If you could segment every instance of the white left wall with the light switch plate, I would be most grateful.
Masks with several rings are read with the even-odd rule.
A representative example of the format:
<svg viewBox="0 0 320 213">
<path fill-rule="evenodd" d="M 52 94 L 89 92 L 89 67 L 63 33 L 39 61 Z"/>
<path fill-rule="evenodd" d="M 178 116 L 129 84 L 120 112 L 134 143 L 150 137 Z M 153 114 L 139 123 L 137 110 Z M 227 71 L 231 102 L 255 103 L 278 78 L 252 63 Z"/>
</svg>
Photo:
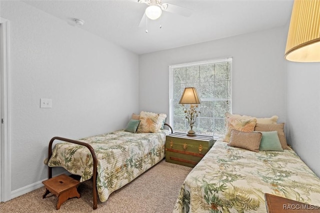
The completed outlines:
<svg viewBox="0 0 320 213">
<path fill-rule="evenodd" d="M 15 190 L 47 178 L 52 136 L 125 127 L 138 112 L 138 55 L 20 1 L 1 1 L 0 14 L 10 25 Z M 52 108 L 40 108 L 40 98 L 51 98 Z"/>
</svg>

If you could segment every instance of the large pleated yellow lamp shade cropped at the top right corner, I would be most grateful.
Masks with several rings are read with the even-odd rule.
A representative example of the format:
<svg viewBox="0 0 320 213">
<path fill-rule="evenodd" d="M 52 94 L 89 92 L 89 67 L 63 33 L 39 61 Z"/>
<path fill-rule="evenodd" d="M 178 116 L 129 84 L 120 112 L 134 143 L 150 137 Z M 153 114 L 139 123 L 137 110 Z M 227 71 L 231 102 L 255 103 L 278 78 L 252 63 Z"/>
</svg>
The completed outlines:
<svg viewBox="0 0 320 213">
<path fill-rule="evenodd" d="M 320 0 L 294 0 L 284 57 L 320 61 Z"/>
</svg>

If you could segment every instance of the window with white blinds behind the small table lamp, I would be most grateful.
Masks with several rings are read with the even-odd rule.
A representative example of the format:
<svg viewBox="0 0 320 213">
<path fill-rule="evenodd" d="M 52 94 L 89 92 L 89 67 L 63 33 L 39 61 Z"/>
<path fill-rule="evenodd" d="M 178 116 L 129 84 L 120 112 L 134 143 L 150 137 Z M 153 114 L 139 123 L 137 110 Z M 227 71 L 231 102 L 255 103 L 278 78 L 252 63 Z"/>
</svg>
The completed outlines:
<svg viewBox="0 0 320 213">
<path fill-rule="evenodd" d="M 185 87 L 195 87 L 201 104 L 193 130 L 197 134 L 224 135 L 224 113 L 231 112 L 231 65 L 232 58 L 223 58 L 170 66 L 170 118 L 174 131 L 189 130 L 179 100 Z"/>
</svg>

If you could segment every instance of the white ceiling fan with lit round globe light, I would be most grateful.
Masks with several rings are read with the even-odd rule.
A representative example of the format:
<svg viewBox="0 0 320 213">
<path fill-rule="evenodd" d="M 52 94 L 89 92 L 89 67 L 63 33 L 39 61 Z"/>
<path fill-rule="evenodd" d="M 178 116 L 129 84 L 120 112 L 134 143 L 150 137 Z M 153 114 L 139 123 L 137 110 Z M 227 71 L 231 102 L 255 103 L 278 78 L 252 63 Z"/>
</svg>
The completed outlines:
<svg viewBox="0 0 320 213">
<path fill-rule="evenodd" d="M 137 0 L 138 3 L 145 3 L 148 5 L 140 21 L 139 27 L 143 25 L 146 17 L 155 20 L 159 18 L 162 14 L 162 11 L 167 11 L 171 13 L 176 13 L 185 17 L 188 17 L 192 14 L 192 10 L 182 6 L 177 6 L 171 3 L 162 3 L 162 0 Z M 146 17 L 145 17 L 146 16 Z"/>
</svg>

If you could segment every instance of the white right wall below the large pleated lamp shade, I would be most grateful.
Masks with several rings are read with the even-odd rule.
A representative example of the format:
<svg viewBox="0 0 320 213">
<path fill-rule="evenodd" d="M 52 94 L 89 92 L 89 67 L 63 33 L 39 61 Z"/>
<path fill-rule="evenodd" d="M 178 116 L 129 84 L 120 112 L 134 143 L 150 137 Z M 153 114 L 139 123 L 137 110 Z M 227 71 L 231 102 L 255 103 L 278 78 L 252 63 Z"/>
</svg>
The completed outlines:
<svg viewBox="0 0 320 213">
<path fill-rule="evenodd" d="M 320 176 L 320 63 L 287 62 L 287 133 L 292 148 Z"/>
</svg>

